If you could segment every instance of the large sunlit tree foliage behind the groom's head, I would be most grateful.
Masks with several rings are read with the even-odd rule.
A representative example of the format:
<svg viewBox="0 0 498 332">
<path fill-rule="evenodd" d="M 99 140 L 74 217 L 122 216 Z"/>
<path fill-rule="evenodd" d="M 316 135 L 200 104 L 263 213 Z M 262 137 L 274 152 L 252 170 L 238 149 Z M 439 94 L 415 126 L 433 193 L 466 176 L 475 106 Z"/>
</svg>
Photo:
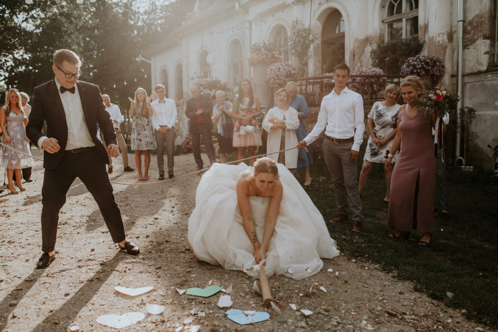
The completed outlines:
<svg viewBox="0 0 498 332">
<path fill-rule="evenodd" d="M 188 17 L 192 2 L 1 1 L 0 85 L 32 95 L 54 77 L 54 51 L 68 48 L 82 60 L 80 80 L 99 85 L 127 110 L 138 87 L 151 92 L 150 64 L 137 58 Z"/>
</svg>

